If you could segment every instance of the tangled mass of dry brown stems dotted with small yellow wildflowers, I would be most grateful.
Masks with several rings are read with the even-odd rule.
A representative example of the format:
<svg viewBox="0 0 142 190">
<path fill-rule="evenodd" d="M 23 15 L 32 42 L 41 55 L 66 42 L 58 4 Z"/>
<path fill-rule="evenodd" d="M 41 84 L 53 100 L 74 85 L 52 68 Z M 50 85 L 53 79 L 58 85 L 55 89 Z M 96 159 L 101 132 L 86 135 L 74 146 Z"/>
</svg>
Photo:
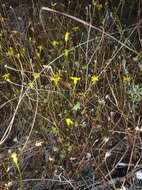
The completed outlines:
<svg viewBox="0 0 142 190">
<path fill-rule="evenodd" d="M 101 189 L 127 188 L 127 179 L 119 185 L 113 179 L 141 179 L 142 56 L 131 41 L 138 28 L 124 28 L 126 5 L 112 3 L 77 4 L 82 20 L 76 10 L 70 13 L 73 1 L 40 10 L 32 2 L 39 19 L 27 19 L 23 31 L 17 19 L 26 16 L 15 12 L 17 27 L 11 29 L 3 10 L 1 188 L 23 189 L 38 174 L 63 189 L 92 189 L 97 181 Z"/>
</svg>

